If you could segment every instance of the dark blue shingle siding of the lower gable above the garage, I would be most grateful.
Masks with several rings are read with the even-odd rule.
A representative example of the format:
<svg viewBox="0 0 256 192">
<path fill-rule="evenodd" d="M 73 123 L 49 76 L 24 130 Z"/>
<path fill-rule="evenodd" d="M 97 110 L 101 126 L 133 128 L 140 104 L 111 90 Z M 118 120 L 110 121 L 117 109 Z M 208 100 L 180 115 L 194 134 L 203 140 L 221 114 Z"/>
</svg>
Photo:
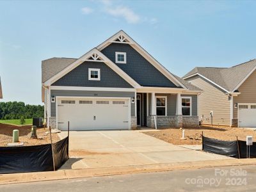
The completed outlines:
<svg viewBox="0 0 256 192">
<path fill-rule="evenodd" d="M 88 80 L 88 68 L 100 68 L 100 81 Z M 52 85 L 132 88 L 131 84 L 116 74 L 108 65 L 94 61 L 85 61 Z"/>
</svg>

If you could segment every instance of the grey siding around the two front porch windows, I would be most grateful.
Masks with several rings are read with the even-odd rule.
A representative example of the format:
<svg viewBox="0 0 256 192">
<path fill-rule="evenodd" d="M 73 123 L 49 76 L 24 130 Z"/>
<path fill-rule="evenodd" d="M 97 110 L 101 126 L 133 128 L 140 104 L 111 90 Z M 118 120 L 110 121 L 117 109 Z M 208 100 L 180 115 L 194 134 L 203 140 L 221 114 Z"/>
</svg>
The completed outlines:
<svg viewBox="0 0 256 192">
<path fill-rule="evenodd" d="M 167 97 L 167 116 L 176 115 L 177 94 L 171 93 L 156 93 L 156 96 Z M 184 97 L 192 97 L 192 116 L 197 116 L 197 96 L 196 95 L 181 95 Z M 151 114 L 151 93 L 148 94 L 148 114 Z"/>
</svg>

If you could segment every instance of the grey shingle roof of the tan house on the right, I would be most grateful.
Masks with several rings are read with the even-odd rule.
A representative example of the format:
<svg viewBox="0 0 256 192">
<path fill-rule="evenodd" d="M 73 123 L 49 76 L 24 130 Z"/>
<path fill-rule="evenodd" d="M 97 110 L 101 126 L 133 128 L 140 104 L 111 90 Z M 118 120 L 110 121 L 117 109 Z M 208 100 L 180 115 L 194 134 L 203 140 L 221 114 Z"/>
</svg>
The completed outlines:
<svg viewBox="0 0 256 192">
<path fill-rule="evenodd" d="M 199 75 L 217 84 L 227 92 L 234 92 L 255 69 L 256 60 L 250 60 L 229 68 L 195 67 L 183 79 Z"/>
</svg>

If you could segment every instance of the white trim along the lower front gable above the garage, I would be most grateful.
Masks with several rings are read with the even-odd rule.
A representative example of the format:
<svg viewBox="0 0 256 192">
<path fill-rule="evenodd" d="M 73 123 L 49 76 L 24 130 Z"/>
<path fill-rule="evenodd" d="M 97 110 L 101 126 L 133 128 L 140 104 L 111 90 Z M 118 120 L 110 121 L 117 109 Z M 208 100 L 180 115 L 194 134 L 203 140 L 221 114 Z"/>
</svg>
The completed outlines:
<svg viewBox="0 0 256 192">
<path fill-rule="evenodd" d="M 84 54 L 83 56 L 78 58 L 76 61 L 74 61 L 74 63 L 71 63 L 70 65 L 68 65 L 68 67 L 64 68 L 63 70 L 58 72 L 58 74 L 51 77 L 51 79 L 47 80 L 44 83 L 44 86 L 51 86 L 52 83 L 58 81 L 58 79 L 65 76 L 66 74 L 68 74 L 68 72 L 70 72 L 77 66 L 84 63 L 84 61 L 104 62 L 106 65 L 108 65 L 108 67 L 110 67 L 113 71 L 115 71 L 116 74 L 118 74 L 120 77 L 125 79 L 125 81 L 127 81 L 127 83 L 131 84 L 134 88 L 141 87 L 140 84 L 138 84 L 136 81 L 134 81 L 134 79 L 132 79 L 130 76 L 128 76 L 121 68 L 119 68 L 117 65 L 115 65 L 115 63 L 113 63 L 111 60 L 109 60 L 109 58 L 104 56 L 104 54 L 102 54 L 102 52 L 100 52 L 96 48 L 92 49 L 89 52 L 86 52 L 86 54 Z"/>
</svg>

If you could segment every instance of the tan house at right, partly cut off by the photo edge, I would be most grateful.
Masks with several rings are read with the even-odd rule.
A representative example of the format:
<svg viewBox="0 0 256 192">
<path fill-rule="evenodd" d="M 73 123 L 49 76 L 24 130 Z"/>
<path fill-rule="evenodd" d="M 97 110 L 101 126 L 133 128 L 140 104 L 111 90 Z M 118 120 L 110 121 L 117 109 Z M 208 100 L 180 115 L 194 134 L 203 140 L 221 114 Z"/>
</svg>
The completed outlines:
<svg viewBox="0 0 256 192">
<path fill-rule="evenodd" d="M 230 68 L 196 67 L 183 77 L 203 90 L 198 115 L 204 124 L 256 127 L 255 69 L 250 60 Z"/>
</svg>

